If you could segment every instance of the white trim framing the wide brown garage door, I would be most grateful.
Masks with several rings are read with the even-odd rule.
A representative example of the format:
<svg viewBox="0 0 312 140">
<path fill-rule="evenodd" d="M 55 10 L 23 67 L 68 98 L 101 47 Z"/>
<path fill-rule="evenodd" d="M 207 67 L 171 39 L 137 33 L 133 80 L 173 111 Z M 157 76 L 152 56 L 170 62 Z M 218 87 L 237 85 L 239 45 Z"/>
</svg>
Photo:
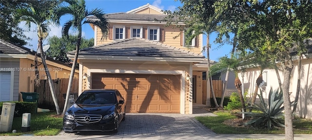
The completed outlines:
<svg viewBox="0 0 312 140">
<path fill-rule="evenodd" d="M 185 114 L 185 71 L 184 70 L 103 70 L 103 69 L 89 69 L 87 75 L 89 75 L 88 81 L 91 81 L 91 73 L 132 73 L 132 74 L 179 74 L 181 75 L 181 89 L 180 89 L 180 113 Z M 90 88 L 91 83 L 88 82 Z M 80 93 L 79 93 L 80 94 Z"/>
</svg>

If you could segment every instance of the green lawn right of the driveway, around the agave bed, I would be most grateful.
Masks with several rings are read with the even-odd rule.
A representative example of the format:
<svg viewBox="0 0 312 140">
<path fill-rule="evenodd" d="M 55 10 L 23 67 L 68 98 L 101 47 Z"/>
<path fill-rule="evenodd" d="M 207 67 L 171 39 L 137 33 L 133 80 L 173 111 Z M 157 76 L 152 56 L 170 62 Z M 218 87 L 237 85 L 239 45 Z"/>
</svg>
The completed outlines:
<svg viewBox="0 0 312 140">
<path fill-rule="evenodd" d="M 217 117 L 195 117 L 200 123 L 217 134 L 285 134 L 284 129 L 259 129 L 253 127 L 233 127 L 223 124 L 224 121 L 237 118 L 230 112 L 214 112 Z M 312 134 L 312 120 L 293 120 L 294 134 Z"/>
</svg>

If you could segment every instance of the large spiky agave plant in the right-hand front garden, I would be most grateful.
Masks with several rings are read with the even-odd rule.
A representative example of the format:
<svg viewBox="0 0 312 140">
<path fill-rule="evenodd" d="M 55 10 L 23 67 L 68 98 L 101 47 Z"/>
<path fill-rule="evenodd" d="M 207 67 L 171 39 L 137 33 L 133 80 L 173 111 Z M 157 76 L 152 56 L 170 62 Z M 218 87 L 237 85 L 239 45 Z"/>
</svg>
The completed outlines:
<svg viewBox="0 0 312 140">
<path fill-rule="evenodd" d="M 251 117 L 251 120 L 245 125 L 252 125 L 254 127 L 265 128 L 268 130 L 277 127 L 285 127 L 284 125 L 284 99 L 282 91 L 270 89 L 268 103 L 263 99 L 262 91 L 258 94 L 260 105 L 254 104 L 248 108 L 259 110 L 259 112 L 243 112 L 246 117 Z"/>
</svg>

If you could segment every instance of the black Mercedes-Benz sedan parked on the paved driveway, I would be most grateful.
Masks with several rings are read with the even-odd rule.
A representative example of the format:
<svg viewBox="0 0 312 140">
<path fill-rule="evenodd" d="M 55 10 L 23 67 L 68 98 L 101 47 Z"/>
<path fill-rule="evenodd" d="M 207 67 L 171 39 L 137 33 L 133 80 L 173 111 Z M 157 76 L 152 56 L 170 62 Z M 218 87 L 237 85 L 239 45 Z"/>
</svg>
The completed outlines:
<svg viewBox="0 0 312 140">
<path fill-rule="evenodd" d="M 82 92 L 64 114 L 64 132 L 113 131 L 125 120 L 126 104 L 116 89 L 90 89 Z"/>
</svg>

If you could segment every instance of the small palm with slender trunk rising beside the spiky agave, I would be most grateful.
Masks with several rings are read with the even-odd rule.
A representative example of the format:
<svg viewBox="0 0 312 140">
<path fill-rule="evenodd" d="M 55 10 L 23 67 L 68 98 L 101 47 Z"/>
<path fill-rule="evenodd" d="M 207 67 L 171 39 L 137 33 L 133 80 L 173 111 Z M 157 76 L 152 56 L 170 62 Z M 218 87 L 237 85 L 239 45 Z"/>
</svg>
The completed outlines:
<svg viewBox="0 0 312 140">
<path fill-rule="evenodd" d="M 243 61 L 238 59 L 237 55 L 234 54 L 231 56 L 231 58 L 224 56 L 224 57 L 219 58 L 219 62 L 211 67 L 209 75 L 215 75 L 218 72 L 225 72 L 228 69 L 234 71 L 234 75 L 235 75 L 234 85 L 235 85 L 235 88 L 237 88 L 238 90 L 239 99 L 240 99 L 240 102 L 242 103 L 243 111 L 245 112 L 246 106 L 245 106 L 244 96 L 241 90 L 242 84 L 238 78 L 238 72 L 240 70 L 243 70 L 241 66 L 244 66 L 244 63 Z"/>
</svg>

